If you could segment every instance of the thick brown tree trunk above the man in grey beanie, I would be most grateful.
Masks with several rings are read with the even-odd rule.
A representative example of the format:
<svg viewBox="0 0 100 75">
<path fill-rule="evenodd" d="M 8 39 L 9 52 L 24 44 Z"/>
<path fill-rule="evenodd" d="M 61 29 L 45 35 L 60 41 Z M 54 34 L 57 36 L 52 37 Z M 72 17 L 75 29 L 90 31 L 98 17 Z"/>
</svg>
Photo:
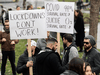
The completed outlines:
<svg viewBox="0 0 100 75">
<path fill-rule="evenodd" d="M 99 3 L 100 0 L 91 0 L 89 34 L 92 35 L 96 41 L 97 41 L 97 27 L 98 27 L 98 17 L 99 17 Z"/>
</svg>

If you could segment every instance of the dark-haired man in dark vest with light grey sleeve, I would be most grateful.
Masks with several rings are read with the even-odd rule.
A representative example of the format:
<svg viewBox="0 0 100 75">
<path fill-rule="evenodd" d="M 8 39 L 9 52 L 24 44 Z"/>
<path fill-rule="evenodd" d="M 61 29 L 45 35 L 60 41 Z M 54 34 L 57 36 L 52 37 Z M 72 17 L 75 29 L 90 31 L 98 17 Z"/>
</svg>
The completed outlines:
<svg viewBox="0 0 100 75">
<path fill-rule="evenodd" d="M 63 52 L 62 57 L 62 65 L 65 66 L 74 58 L 78 57 L 78 51 L 77 48 L 72 44 L 73 37 L 70 34 L 65 34 L 63 36 L 63 43 L 66 45 L 66 48 Z"/>
</svg>

